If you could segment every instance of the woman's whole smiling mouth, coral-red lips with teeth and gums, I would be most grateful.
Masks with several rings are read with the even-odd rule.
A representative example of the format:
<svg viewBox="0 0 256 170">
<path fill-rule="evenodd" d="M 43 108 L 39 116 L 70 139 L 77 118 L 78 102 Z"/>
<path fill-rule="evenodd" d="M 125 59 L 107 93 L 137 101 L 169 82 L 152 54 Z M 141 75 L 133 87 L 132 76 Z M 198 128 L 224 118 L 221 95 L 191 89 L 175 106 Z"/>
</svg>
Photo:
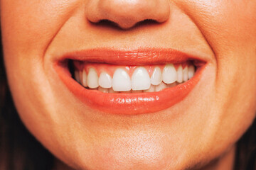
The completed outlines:
<svg viewBox="0 0 256 170">
<path fill-rule="evenodd" d="M 206 62 L 170 49 L 85 50 L 63 55 L 54 68 L 86 106 L 106 113 L 154 113 L 183 101 Z"/>
</svg>

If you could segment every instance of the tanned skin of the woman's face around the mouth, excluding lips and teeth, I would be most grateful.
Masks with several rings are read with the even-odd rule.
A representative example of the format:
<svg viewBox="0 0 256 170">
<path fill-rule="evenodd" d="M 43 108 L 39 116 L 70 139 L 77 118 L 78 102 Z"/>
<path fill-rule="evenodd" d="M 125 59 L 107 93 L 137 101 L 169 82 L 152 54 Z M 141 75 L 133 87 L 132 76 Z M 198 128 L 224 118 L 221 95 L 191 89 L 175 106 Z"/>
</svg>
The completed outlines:
<svg viewBox="0 0 256 170">
<path fill-rule="evenodd" d="M 92 23 L 105 13 L 123 29 Z M 4 60 L 18 113 L 73 169 L 193 169 L 213 160 L 218 169 L 225 155 L 232 164 L 235 142 L 255 118 L 255 13 L 252 0 L 1 0 Z M 159 23 L 134 26 L 144 19 Z M 200 54 L 207 67 L 176 105 L 112 115 L 79 101 L 53 69 L 65 52 L 97 47 L 174 48 Z"/>
</svg>

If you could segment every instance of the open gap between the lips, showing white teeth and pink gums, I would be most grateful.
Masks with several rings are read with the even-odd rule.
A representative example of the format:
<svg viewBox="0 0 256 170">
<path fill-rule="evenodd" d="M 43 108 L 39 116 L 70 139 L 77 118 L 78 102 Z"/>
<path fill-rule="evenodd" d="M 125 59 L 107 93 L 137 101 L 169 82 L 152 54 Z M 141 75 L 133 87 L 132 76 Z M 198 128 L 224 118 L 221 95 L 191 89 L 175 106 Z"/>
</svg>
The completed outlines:
<svg viewBox="0 0 256 170">
<path fill-rule="evenodd" d="M 149 93 L 177 86 L 191 79 L 191 62 L 125 66 L 71 61 L 73 78 L 86 89 L 103 93 Z"/>
</svg>

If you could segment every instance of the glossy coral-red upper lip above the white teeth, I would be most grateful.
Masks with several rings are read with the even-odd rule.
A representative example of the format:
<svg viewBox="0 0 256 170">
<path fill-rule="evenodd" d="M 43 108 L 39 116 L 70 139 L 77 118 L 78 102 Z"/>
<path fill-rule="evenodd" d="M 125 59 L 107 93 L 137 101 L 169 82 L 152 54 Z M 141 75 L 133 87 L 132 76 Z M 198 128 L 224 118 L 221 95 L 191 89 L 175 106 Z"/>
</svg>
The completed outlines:
<svg viewBox="0 0 256 170">
<path fill-rule="evenodd" d="M 196 61 L 197 64 L 203 61 L 203 57 L 191 55 L 174 49 L 142 48 L 138 50 L 114 50 L 109 48 L 98 48 L 68 52 L 58 58 L 63 60 L 79 60 L 86 62 L 101 62 L 119 65 L 146 65 L 181 63 L 188 60 Z"/>
</svg>

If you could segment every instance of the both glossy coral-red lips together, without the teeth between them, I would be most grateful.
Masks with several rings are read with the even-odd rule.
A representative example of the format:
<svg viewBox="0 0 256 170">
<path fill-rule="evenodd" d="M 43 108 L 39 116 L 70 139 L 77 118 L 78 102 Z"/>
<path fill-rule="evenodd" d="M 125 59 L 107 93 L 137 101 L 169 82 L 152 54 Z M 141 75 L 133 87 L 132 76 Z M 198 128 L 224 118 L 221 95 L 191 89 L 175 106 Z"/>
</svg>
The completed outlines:
<svg viewBox="0 0 256 170">
<path fill-rule="evenodd" d="M 125 65 L 181 63 L 188 60 L 196 60 L 198 68 L 192 79 L 162 91 L 139 94 L 105 94 L 97 90 L 85 89 L 78 84 L 68 72 L 67 67 L 63 67 L 63 60 L 67 59 Z M 161 111 L 182 101 L 200 80 L 205 63 L 198 57 L 177 50 L 142 49 L 121 51 L 95 49 L 63 55 L 55 62 L 54 68 L 68 89 L 85 105 L 106 113 L 135 115 Z"/>
</svg>

